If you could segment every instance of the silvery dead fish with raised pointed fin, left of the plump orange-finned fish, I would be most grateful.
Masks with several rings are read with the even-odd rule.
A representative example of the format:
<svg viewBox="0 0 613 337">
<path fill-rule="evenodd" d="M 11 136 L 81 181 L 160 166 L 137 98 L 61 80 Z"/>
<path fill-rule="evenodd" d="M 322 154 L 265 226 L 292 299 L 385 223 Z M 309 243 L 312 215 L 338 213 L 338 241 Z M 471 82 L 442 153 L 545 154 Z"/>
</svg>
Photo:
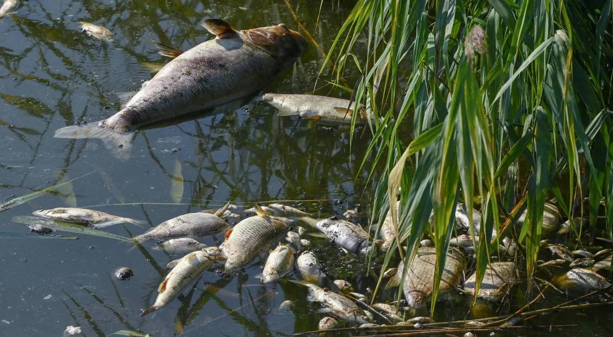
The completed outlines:
<svg viewBox="0 0 613 337">
<path fill-rule="evenodd" d="M 199 212 L 177 216 L 162 222 L 144 234 L 138 235 L 135 240 L 143 242 L 180 237 L 200 238 L 219 233 L 228 226 L 224 219 L 219 218 L 219 215 L 226 211 L 226 206 L 220 208 L 215 214 Z"/>
</svg>

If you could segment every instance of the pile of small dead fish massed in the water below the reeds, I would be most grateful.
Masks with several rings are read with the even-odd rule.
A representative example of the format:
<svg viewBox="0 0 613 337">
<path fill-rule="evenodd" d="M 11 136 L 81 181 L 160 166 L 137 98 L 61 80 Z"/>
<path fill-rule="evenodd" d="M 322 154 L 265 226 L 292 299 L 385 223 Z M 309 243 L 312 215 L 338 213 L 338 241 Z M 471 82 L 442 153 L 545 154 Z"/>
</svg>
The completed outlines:
<svg viewBox="0 0 613 337">
<path fill-rule="evenodd" d="M 552 227 L 552 231 L 557 230 L 561 222 L 554 207 L 546 208 L 544 216 L 545 219 L 550 219 L 547 220 L 546 226 Z M 54 208 L 34 211 L 33 214 L 41 218 L 88 225 L 97 229 L 118 223 L 143 224 L 131 218 L 82 208 Z M 279 203 L 268 206 L 256 205 L 243 211 L 227 203 L 219 210 L 203 210 L 164 221 L 137 235 L 134 241 L 138 243 L 154 241 L 167 251 L 183 252 L 186 255 L 168 263 L 169 272 L 159 284 L 158 296 L 149 308 L 143 310 L 143 315 L 168 305 L 191 282 L 214 266 L 219 268 L 223 265 L 226 273 L 232 273 L 250 265 L 258 260 L 258 257 L 265 256 L 264 268 L 257 277 L 267 283 L 278 282 L 281 278 L 291 276 L 290 281 L 305 286 L 308 300 L 321 305 L 318 312 L 332 316 L 321 319 L 319 327 L 322 329 L 337 327 L 337 320 L 365 327 L 374 326 L 375 322 L 411 325 L 430 322 L 427 317 L 413 317 L 415 310 L 424 308 L 432 298 L 436 255 L 430 240 L 421 242 L 421 247 L 417 249 L 408 268 L 400 262 L 396 268 L 384 273 L 384 278 L 389 278 L 386 288 L 391 287 L 390 291 L 394 291 L 402 283 L 405 301 L 402 302 L 400 311 L 397 310 L 395 303 L 368 305 L 371 300 L 368 298 L 368 292 L 365 294 L 356 292 L 348 281 L 342 279 L 333 281 L 324 273 L 313 244 L 305 238 L 305 235 L 315 238 L 326 237 L 327 240 L 316 242 L 333 244 L 345 251 L 345 254 L 362 257 L 371 253 L 381 256 L 389 248 L 392 238 L 386 226 L 389 225 L 390 219 L 384 221 L 379 238 L 373 240 L 373 234 L 364 230 L 359 224 L 351 222 L 355 221 L 355 215 L 355 212 L 348 211 L 343 216 L 313 219 L 309 213 Z M 473 211 L 471 217 L 473 229 L 478 231 L 481 214 Z M 468 236 L 470 232 L 468 218 L 466 206 L 458 204 L 455 213 L 455 230 L 461 234 L 452 238 L 452 247 L 447 252 L 439 299 L 445 300 L 446 295 L 464 294 L 466 300 L 472 300 L 476 296 L 482 301 L 500 302 L 518 282 L 517 271 L 512 261 L 515 254 L 512 246 L 516 244 L 511 240 L 500 246 L 498 252 L 501 257 L 498 258 L 498 262 L 490 263 L 481 287 L 475 292 L 476 275 L 469 273 L 467 267 L 467 262 L 474 259 L 472 247 L 474 241 Z M 229 228 L 230 224 L 226 219 L 240 219 L 240 221 Z M 42 227 L 44 226 L 37 225 L 37 228 L 32 230 L 39 233 L 51 232 L 51 229 Z M 225 240 L 219 246 L 207 247 L 196 240 L 224 230 Z M 550 244 L 547 240 L 543 241 L 542 246 L 548 248 L 543 251 L 552 252 L 557 259 L 541 261 L 539 268 L 569 268 L 566 273 L 557 273 L 554 278 L 554 282 L 560 287 L 592 290 L 609 285 L 609 282 L 597 271 L 611 267 L 611 249 L 603 249 L 595 254 L 582 249 L 570 251 L 560 244 Z M 129 268 L 122 268 L 116 273 L 124 277 L 132 275 Z M 284 301 L 280 310 L 290 309 L 292 305 L 291 301 Z"/>
</svg>

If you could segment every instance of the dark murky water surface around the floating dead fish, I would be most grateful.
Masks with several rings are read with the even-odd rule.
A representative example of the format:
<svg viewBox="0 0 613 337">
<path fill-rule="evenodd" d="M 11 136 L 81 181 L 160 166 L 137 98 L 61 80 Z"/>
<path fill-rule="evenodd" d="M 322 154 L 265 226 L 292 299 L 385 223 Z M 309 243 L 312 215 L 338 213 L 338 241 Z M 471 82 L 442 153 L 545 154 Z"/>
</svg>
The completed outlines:
<svg viewBox="0 0 613 337">
<path fill-rule="evenodd" d="M 324 51 L 352 5 L 326 3 L 317 21 L 318 1 L 290 2 Z M 112 115 L 119 108 L 114 93 L 137 90 L 150 79 L 152 69 L 167 62 L 151 40 L 186 49 L 210 39 L 198 25 L 206 17 L 224 18 L 237 28 L 284 22 L 305 34 L 285 1 L 29 1 L 15 15 L 0 18 L 0 202 L 93 172 L 0 213 L 1 336 L 57 336 L 67 325 L 82 327 L 88 336 L 117 330 L 168 336 L 179 329 L 186 335 L 287 335 L 317 327 L 323 315 L 306 301 L 305 289 L 287 280 L 262 286 L 253 277 L 263 260 L 234 276 L 207 271 L 178 300 L 139 318 L 154 300 L 166 263 L 177 257 L 153 245 L 132 249 L 132 244 L 109 238 L 42 237 L 12 221 L 40 208 L 77 205 L 156 225 L 228 199 L 240 206 L 297 200 L 290 203 L 300 202 L 321 217 L 346 207 L 366 208 L 373 184 L 365 184 L 368 165 L 360 171 L 356 163 L 368 133 L 360 137 L 358 132 L 350 148 L 347 132 L 279 117 L 264 105 L 191 115 L 139 131 L 129 161 L 114 159 L 97 140 L 53 138 L 59 127 Z M 80 20 L 106 26 L 115 32 L 114 40 L 81 34 Z M 322 56 L 312 42 L 308 47 L 267 91 L 313 89 Z M 351 81 L 357 74 L 348 70 L 346 75 Z M 182 195 L 173 180 L 179 175 L 177 163 L 185 181 Z M 129 224 L 105 230 L 124 236 L 143 232 Z M 221 240 L 223 233 L 201 241 L 213 245 Z M 365 268 L 362 263 L 341 259 L 344 254 L 336 249 L 324 249 L 322 255 L 324 267 L 361 291 L 375 286 L 372 276 L 352 276 L 356 268 Z M 131 267 L 135 276 L 112 278 L 121 266 Z M 383 300 L 393 297 L 381 295 Z M 293 312 L 276 309 L 286 299 L 297 301 Z M 441 319 L 471 317 L 462 301 L 441 309 Z M 567 324 L 569 318 L 582 323 L 587 316 L 581 315 L 587 314 L 590 322 L 612 318 L 595 312 L 603 311 L 563 318 Z M 551 316 L 543 319 L 553 321 Z M 611 330 L 601 327 L 593 333 Z"/>
</svg>

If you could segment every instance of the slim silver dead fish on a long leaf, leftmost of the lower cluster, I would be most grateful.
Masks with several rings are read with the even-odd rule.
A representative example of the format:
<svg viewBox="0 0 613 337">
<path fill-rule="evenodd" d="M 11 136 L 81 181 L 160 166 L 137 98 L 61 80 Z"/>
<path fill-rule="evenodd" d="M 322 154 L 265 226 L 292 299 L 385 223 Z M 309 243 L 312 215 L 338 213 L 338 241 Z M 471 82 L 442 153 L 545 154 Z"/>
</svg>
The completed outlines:
<svg viewBox="0 0 613 337">
<path fill-rule="evenodd" d="M 32 214 L 40 218 L 70 222 L 72 224 L 91 225 L 96 228 L 108 227 L 124 222 L 139 225 L 140 227 L 143 227 L 143 224 L 145 224 L 144 221 L 123 218 L 101 211 L 88 210 L 87 208 L 58 207 L 51 210 L 33 211 Z"/>
</svg>

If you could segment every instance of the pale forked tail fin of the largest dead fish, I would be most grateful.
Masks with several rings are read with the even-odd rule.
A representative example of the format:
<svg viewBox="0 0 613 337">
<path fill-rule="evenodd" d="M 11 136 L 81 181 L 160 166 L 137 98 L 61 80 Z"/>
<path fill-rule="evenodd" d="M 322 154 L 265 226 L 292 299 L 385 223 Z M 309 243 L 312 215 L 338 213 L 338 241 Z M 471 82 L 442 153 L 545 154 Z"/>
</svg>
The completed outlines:
<svg viewBox="0 0 613 337">
<path fill-rule="evenodd" d="M 55 131 L 55 138 L 98 138 L 117 159 L 127 160 L 132 150 L 134 132 L 122 132 L 99 126 L 99 122 L 62 127 Z"/>
</svg>

